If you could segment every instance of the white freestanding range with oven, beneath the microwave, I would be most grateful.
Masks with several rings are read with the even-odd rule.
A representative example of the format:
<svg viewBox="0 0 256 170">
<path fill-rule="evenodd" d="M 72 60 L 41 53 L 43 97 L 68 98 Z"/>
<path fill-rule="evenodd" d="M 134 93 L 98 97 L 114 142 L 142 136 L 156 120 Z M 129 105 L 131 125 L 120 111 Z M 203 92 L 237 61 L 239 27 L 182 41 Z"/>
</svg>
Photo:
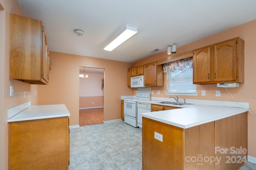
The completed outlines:
<svg viewBox="0 0 256 170">
<path fill-rule="evenodd" d="M 124 122 L 133 126 L 137 125 L 137 100 L 150 100 L 150 93 L 137 92 L 136 98 L 124 99 Z"/>
</svg>

